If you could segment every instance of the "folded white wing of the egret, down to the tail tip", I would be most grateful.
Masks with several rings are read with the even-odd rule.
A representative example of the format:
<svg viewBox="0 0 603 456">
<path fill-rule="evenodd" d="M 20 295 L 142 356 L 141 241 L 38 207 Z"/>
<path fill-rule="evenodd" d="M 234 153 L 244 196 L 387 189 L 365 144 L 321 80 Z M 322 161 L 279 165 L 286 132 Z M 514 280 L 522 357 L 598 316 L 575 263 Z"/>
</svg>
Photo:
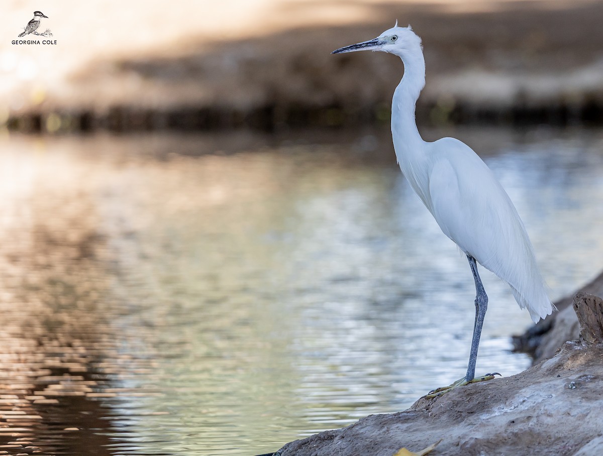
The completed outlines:
<svg viewBox="0 0 603 456">
<path fill-rule="evenodd" d="M 490 168 L 457 140 L 440 140 L 429 175 L 432 214 L 467 255 L 507 282 L 532 319 L 552 312 L 534 249 L 507 192 Z"/>
</svg>

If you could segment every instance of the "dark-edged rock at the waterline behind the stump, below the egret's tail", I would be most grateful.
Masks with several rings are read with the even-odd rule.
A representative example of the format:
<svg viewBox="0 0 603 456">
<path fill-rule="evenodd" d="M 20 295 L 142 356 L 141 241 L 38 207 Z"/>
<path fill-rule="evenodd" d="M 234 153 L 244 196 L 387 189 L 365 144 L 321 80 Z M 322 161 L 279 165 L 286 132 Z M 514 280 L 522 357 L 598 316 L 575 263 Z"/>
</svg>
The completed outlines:
<svg viewBox="0 0 603 456">
<path fill-rule="evenodd" d="M 578 293 L 603 296 L 603 272 L 582 287 Z M 520 336 L 513 336 L 514 351 L 527 353 L 534 358 L 534 364 L 554 357 L 555 351 L 566 340 L 578 339 L 578 317 L 572 310 L 572 296 L 555 302 L 559 312 L 540 320 Z"/>
</svg>

